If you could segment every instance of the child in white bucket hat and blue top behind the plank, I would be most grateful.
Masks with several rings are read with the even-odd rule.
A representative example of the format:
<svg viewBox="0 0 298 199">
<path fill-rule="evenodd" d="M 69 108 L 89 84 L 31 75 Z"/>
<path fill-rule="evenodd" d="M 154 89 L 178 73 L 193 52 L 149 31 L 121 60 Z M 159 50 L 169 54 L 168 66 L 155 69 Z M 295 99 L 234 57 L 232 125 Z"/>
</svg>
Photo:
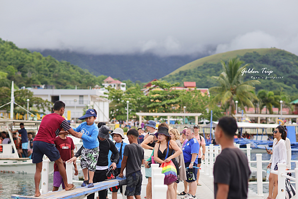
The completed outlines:
<svg viewBox="0 0 298 199">
<path fill-rule="evenodd" d="M 111 133 L 113 136 L 114 140 L 116 141 L 115 146 L 119 151 L 119 160 L 117 161 L 117 173 L 120 174 L 121 171 L 121 163 L 123 159 L 123 154 L 124 154 L 124 147 L 127 145 L 127 143 L 123 142 L 122 139 L 124 139 L 124 132 L 121 128 L 116 128 L 113 133 Z M 122 186 L 116 186 L 110 188 L 110 191 L 112 192 L 112 199 L 117 199 L 117 192 L 120 188 L 120 193 L 122 194 Z"/>
</svg>

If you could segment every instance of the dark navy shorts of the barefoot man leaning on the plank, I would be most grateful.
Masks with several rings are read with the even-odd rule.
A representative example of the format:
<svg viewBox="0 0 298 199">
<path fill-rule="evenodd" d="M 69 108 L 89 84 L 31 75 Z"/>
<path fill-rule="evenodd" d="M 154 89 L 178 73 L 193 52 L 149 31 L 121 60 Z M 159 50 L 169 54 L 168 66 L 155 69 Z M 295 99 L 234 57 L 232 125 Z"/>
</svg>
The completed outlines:
<svg viewBox="0 0 298 199">
<path fill-rule="evenodd" d="M 60 158 L 60 153 L 55 147 L 55 144 L 44 141 L 33 141 L 32 163 L 37 164 L 42 162 L 43 155 L 46 155 L 51 162 Z"/>
</svg>

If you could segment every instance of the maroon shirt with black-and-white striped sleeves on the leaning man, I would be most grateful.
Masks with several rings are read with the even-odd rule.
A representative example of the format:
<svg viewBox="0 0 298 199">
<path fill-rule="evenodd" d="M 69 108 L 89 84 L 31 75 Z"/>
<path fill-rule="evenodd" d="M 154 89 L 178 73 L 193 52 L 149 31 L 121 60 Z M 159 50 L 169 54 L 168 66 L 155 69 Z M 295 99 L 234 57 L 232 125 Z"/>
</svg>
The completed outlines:
<svg viewBox="0 0 298 199">
<path fill-rule="evenodd" d="M 34 141 L 44 141 L 54 144 L 56 136 L 62 129 L 68 131 L 71 129 L 71 126 L 62 116 L 56 113 L 48 114 L 42 119 Z"/>
</svg>

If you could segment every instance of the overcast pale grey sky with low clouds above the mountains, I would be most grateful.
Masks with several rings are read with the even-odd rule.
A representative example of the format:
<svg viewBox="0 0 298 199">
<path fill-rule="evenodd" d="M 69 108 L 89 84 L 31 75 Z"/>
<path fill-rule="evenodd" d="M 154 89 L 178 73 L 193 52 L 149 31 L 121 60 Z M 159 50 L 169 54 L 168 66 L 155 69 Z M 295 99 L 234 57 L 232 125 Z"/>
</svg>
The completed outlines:
<svg viewBox="0 0 298 199">
<path fill-rule="evenodd" d="M 297 8 L 298 0 L 1 0 L 0 38 L 95 55 L 298 55 Z"/>
</svg>

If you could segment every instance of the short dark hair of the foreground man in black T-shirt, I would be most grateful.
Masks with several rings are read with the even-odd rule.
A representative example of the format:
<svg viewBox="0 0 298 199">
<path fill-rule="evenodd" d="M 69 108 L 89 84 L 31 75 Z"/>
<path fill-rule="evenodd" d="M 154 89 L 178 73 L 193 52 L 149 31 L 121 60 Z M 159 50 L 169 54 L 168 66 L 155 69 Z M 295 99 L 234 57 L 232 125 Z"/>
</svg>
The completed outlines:
<svg viewBox="0 0 298 199">
<path fill-rule="evenodd" d="M 219 120 L 218 126 L 223 130 L 224 134 L 230 138 L 234 137 L 234 134 L 238 129 L 236 120 L 227 116 L 222 117 Z"/>
</svg>

